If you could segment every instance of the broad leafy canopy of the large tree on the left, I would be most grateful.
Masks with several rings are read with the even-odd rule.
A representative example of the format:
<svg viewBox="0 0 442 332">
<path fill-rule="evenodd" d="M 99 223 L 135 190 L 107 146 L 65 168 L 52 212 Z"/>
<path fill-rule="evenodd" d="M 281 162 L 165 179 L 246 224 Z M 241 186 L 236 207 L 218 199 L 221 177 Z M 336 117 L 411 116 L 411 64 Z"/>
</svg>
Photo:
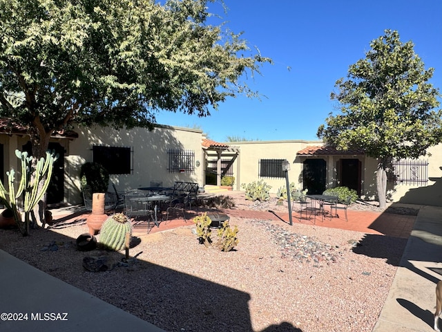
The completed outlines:
<svg viewBox="0 0 442 332">
<path fill-rule="evenodd" d="M 0 117 L 41 155 L 70 124 L 151 129 L 159 111 L 256 96 L 244 74 L 271 60 L 209 25 L 208 2 L 0 0 Z"/>
</svg>

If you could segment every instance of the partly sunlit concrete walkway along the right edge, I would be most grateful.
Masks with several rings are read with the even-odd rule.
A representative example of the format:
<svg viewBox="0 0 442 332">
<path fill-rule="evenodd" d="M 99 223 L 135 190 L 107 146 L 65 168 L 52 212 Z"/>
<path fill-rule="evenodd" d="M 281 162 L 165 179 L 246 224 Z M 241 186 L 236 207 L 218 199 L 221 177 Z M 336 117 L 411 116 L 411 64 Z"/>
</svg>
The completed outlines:
<svg viewBox="0 0 442 332">
<path fill-rule="evenodd" d="M 421 208 L 373 332 L 433 331 L 442 279 L 442 208 Z M 442 328 L 442 322 L 439 320 Z"/>
</svg>

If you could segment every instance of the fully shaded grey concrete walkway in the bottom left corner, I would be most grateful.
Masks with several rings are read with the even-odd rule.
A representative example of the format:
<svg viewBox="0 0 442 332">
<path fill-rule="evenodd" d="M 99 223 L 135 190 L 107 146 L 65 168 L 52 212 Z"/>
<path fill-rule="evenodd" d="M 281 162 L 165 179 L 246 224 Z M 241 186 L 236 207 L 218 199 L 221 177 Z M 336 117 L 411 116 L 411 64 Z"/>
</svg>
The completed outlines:
<svg viewBox="0 0 442 332">
<path fill-rule="evenodd" d="M 0 331 L 163 331 L 3 250 L 0 284 Z"/>
</svg>

